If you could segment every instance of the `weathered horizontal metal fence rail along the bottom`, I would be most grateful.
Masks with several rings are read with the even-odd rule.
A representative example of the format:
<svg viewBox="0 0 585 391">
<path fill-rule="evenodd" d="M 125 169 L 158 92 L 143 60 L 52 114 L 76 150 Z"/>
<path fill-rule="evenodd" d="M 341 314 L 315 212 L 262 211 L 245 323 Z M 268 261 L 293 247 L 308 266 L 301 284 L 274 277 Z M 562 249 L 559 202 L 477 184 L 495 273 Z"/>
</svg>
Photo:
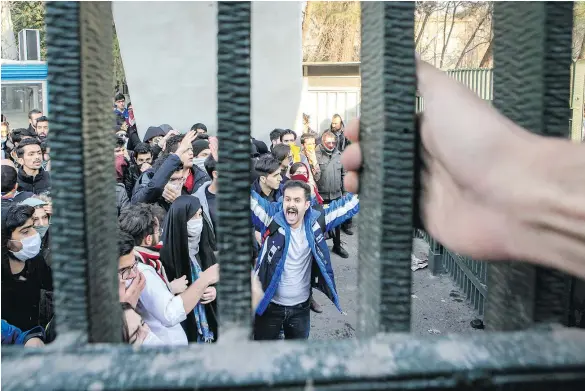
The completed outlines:
<svg viewBox="0 0 585 391">
<path fill-rule="evenodd" d="M 20 349 L 10 358 L 4 350 L 3 391 L 580 391 L 585 381 L 583 332 L 576 329 L 142 349 L 89 345 Z"/>
</svg>

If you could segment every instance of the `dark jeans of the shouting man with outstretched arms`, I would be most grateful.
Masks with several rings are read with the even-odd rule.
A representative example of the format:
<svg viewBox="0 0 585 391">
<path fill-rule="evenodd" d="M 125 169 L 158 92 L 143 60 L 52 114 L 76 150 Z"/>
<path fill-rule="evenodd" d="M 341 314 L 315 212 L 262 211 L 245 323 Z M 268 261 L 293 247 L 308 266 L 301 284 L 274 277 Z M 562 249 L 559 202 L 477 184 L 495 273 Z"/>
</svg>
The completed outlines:
<svg viewBox="0 0 585 391">
<path fill-rule="evenodd" d="M 277 340 L 281 330 L 284 339 L 309 339 L 311 329 L 311 299 L 304 303 L 284 306 L 268 304 L 264 314 L 256 315 L 254 320 L 254 339 Z"/>
</svg>

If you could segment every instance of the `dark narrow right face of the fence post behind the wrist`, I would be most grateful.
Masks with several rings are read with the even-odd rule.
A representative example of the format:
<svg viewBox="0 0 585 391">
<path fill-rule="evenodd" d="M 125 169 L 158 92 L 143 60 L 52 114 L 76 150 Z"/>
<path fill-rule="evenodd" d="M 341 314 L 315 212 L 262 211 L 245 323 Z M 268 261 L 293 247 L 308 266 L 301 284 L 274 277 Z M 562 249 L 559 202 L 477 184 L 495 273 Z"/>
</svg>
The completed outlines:
<svg viewBox="0 0 585 391">
<path fill-rule="evenodd" d="M 572 2 L 545 2 L 544 107 L 542 133 L 570 138 Z M 558 271 L 536 268 L 536 322 L 568 323 L 570 278 Z"/>
</svg>

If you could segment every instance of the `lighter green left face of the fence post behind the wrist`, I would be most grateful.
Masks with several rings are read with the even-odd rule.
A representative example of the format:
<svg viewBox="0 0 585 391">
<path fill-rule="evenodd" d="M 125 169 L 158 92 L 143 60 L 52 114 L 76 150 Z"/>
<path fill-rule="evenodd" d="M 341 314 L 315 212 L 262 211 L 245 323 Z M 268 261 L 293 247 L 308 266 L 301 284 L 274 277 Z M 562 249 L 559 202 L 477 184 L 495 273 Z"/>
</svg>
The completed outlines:
<svg viewBox="0 0 585 391">
<path fill-rule="evenodd" d="M 545 22 L 544 3 L 494 4 L 494 105 L 537 133 L 543 130 Z M 493 263 L 488 267 L 488 284 L 488 329 L 519 330 L 534 321 L 534 266 Z"/>
</svg>

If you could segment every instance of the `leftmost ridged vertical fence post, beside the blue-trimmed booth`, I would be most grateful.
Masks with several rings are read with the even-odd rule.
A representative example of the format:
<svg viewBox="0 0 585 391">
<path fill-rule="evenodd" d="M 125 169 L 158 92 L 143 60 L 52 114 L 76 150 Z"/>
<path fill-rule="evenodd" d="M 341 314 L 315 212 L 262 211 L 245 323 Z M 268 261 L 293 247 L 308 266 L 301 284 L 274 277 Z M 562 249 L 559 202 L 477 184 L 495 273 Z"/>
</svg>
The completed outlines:
<svg viewBox="0 0 585 391">
<path fill-rule="evenodd" d="M 111 3 L 46 7 L 57 330 L 119 342 Z"/>
</svg>

